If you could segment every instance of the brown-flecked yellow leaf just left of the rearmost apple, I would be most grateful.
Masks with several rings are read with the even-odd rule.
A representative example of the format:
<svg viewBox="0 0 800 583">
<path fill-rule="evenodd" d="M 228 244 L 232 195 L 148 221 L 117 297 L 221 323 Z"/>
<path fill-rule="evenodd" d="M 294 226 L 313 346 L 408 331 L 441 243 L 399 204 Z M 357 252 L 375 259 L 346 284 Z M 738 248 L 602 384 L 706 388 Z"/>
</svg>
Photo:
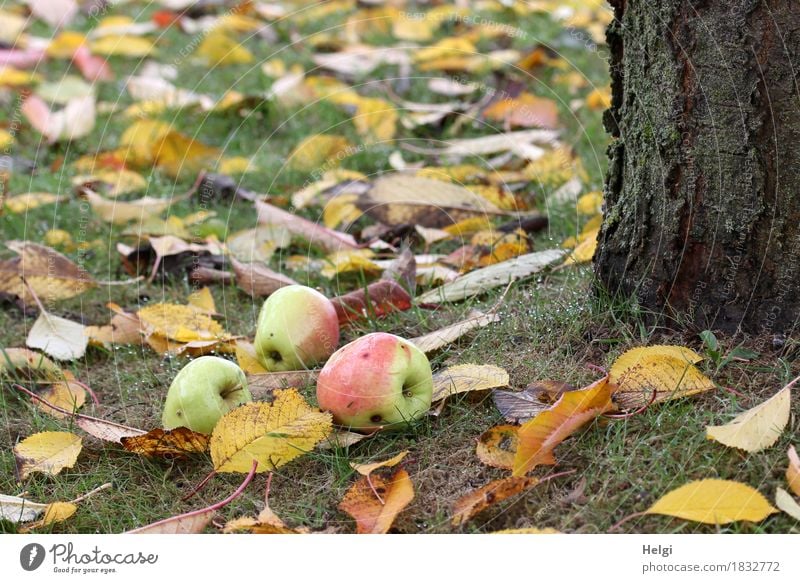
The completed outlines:
<svg viewBox="0 0 800 583">
<path fill-rule="evenodd" d="M 210 316 L 180 304 L 153 304 L 139 310 L 139 320 L 148 335 L 178 342 L 230 338 Z"/>
</svg>

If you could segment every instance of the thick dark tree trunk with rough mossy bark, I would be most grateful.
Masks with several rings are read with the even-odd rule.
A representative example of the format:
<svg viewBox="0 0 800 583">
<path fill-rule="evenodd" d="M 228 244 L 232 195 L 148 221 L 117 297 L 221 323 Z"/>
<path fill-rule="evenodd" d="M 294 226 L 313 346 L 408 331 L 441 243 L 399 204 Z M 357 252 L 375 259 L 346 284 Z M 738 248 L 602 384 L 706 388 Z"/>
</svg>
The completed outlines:
<svg viewBox="0 0 800 583">
<path fill-rule="evenodd" d="M 598 284 L 670 327 L 800 315 L 800 2 L 612 0 Z"/>
</svg>

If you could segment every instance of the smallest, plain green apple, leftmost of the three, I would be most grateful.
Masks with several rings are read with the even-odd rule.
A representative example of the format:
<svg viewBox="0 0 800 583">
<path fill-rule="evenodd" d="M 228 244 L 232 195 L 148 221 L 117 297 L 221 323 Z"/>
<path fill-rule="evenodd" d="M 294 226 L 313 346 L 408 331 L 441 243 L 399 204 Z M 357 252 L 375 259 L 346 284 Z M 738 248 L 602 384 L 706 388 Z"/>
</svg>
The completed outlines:
<svg viewBox="0 0 800 583">
<path fill-rule="evenodd" d="M 172 381 L 162 423 L 165 429 L 188 427 L 211 433 L 225 413 L 252 400 L 242 369 L 224 358 L 201 356 Z"/>
</svg>

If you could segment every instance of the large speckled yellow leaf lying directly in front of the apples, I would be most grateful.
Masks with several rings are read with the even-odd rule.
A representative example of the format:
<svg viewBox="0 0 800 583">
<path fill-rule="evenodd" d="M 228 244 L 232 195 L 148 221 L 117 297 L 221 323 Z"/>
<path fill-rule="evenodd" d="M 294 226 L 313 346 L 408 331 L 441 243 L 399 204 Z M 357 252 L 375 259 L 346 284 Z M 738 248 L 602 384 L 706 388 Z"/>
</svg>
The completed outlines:
<svg viewBox="0 0 800 583">
<path fill-rule="evenodd" d="M 274 470 L 311 451 L 331 432 L 331 415 L 312 409 L 296 389 L 278 390 L 272 403 L 248 403 L 225 415 L 211 434 L 217 472 Z"/>
</svg>

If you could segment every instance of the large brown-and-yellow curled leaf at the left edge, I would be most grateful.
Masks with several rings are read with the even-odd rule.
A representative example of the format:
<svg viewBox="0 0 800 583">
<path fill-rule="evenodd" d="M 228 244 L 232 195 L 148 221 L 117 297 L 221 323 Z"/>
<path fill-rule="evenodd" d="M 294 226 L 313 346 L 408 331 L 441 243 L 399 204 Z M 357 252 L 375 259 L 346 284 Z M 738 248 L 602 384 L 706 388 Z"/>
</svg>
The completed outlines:
<svg viewBox="0 0 800 583">
<path fill-rule="evenodd" d="M 6 241 L 6 246 L 18 257 L 0 261 L 0 292 L 32 302 L 22 277 L 43 302 L 72 298 L 97 286 L 86 270 L 49 247 L 28 241 Z"/>
</svg>

